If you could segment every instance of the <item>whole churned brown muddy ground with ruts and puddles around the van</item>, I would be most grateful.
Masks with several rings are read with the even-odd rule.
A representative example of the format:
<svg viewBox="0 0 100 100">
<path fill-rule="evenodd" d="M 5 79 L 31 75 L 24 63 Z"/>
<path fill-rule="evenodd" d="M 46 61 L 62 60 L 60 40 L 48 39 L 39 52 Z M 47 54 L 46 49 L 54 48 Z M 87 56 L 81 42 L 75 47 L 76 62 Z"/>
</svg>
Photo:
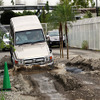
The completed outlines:
<svg viewBox="0 0 100 100">
<path fill-rule="evenodd" d="M 1 92 L 6 100 L 100 100 L 100 59 L 81 56 L 69 60 L 54 56 L 54 69 L 36 67 L 13 72 L 9 57 L 0 61 L 0 87 L 3 66 L 8 61 L 11 91 Z"/>
</svg>

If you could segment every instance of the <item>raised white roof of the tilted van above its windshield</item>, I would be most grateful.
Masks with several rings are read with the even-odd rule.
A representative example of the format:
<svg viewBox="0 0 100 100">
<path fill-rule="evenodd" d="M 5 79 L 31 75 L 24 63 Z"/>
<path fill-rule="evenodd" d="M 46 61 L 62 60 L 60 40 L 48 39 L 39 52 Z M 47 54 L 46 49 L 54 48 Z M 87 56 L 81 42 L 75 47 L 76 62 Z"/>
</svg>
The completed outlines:
<svg viewBox="0 0 100 100">
<path fill-rule="evenodd" d="M 42 29 L 40 21 L 36 15 L 20 16 L 11 18 L 14 31 L 25 31 L 33 29 Z"/>
</svg>

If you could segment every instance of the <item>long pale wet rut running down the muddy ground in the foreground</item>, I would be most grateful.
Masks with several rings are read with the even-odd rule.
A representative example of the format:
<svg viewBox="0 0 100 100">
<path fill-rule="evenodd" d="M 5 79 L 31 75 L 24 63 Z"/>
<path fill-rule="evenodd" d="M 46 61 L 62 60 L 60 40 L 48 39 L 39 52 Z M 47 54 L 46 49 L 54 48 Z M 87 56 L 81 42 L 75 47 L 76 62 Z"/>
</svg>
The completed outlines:
<svg viewBox="0 0 100 100">
<path fill-rule="evenodd" d="M 40 77 L 33 75 L 32 78 L 38 82 L 40 92 L 49 96 L 50 100 L 67 100 L 62 94 L 57 92 L 53 80 L 49 77 L 41 74 Z"/>
</svg>

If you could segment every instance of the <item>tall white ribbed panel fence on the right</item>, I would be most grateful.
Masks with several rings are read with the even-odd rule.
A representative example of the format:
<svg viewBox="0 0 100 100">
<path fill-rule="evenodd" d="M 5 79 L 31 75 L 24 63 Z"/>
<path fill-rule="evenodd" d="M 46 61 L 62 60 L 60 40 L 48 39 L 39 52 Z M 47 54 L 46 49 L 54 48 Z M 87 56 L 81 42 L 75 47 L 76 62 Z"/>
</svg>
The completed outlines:
<svg viewBox="0 0 100 100">
<path fill-rule="evenodd" d="M 100 50 L 100 17 L 78 20 L 69 27 L 69 46 L 82 48 L 86 40 L 89 49 Z"/>
</svg>

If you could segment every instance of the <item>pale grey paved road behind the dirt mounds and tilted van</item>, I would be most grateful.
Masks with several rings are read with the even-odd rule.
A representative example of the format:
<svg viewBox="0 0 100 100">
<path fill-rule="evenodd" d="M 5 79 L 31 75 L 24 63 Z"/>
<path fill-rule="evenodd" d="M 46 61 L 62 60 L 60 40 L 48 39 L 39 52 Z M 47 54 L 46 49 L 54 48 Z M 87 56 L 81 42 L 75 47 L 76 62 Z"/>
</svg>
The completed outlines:
<svg viewBox="0 0 100 100">
<path fill-rule="evenodd" d="M 52 52 L 54 55 L 60 54 L 59 48 L 52 48 Z M 67 50 L 64 48 L 64 57 L 66 57 Z M 9 51 L 2 52 L 0 51 L 0 59 L 4 57 L 5 55 L 10 55 Z M 99 51 L 91 51 L 91 50 L 80 50 L 80 49 L 69 49 L 69 58 L 75 57 L 77 55 L 81 55 L 84 58 L 94 58 L 98 59 L 100 58 L 100 52 Z"/>
</svg>

